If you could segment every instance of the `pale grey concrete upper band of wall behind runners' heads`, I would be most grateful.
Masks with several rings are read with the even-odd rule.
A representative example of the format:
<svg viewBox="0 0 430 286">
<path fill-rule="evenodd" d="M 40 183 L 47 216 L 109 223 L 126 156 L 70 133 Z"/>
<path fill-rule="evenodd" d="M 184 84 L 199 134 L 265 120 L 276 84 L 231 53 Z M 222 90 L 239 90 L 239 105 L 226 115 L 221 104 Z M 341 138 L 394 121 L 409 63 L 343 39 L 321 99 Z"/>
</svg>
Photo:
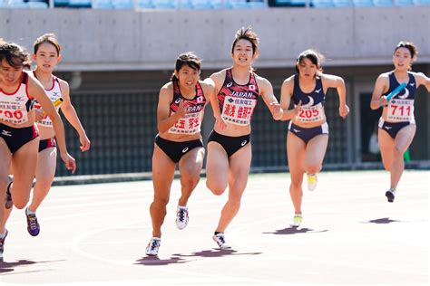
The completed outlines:
<svg viewBox="0 0 430 286">
<path fill-rule="evenodd" d="M 430 62 L 430 6 L 269 8 L 216 11 L 94 9 L 0 10 L 0 36 L 31 46 L 41 33 L 64 45 L 63 71 L 144 71 L 171 68 L 179 52 L 196 51 L 206 68 L 230 64 L 230 44 L 241 26 L 259 33 L 259 67 L 291 67 L 308 47 L 329 65 L 386 64 L 400 39 L 420 47 Z"/>
</svg>

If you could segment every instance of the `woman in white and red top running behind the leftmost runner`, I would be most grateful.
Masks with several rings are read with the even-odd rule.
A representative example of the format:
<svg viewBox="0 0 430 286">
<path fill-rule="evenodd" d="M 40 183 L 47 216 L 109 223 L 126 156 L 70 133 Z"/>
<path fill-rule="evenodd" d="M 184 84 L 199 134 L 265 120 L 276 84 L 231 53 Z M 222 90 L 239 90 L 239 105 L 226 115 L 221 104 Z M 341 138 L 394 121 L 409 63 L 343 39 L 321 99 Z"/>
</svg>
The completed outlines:
<svg viewBox="0 0 430 286">
<path fill-rule="evenodd" d="M 74 110 L 70 100 L 69 84 L 54 76 L 53 71 L 56 65 L 62 61 L 61 46 L 54 33 L 45 33 L 37 38 L 34 42 L 33 59 L 36 62 L 36 68 L 33 71 L 34 77 L 42 83 L 44 90 L 51 101 L 63 99 L 61 106 L 56 111 L 62 110 L 65 119 L 69 121 L 73 128 L 79 134 L 81 150 L 90 149 L 90 140 L 86 136 L 85 130 L 79 120 L 76 110 Z M 37 221 L 36 210 L 48 195 L 51 185 L 53 184 L 57 149 L 55 142 L 55 133 L 53 121 L 44 114 L 41 105 L 36 102 L 34 107 L 36 124 L 39 129 L 39 156 L 35 171 L 36 183 L 32 201 L 25 209 L 27 216 L 27 231 L 29 234 L 36 236 L 40 232 L 40 225 Z"/>
</svg>

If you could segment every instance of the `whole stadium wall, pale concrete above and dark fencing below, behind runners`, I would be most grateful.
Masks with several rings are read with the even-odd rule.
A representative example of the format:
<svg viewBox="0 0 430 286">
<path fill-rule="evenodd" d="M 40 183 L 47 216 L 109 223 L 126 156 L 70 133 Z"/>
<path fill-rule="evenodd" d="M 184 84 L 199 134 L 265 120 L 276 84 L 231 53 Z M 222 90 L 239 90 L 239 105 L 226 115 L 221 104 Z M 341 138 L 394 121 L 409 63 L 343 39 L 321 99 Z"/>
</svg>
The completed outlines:
<svg viewBox="0 0 430 286">
<path fill-rule="evenodd" d="M 429 7 L 340 9 L 277 8 L 261 11 L 98 11 L 53 9 L 0 10 L 0 37 L 31 50 L 42 33 L 56 33 L 64 49 L 58 75 L 71 83 L 73 104 L 92 139 L 92 151 L 79 152 L 76 132 L 66 125 L 78 175 L 151 171 L 158 91 L 169 80 L 180 52 L 203 58 L 202 78 L 230 66 L 230 44 L 240 26 L 252 24 L 261 39 L 255 63 L 272 82 L 276 96 L 294 73 L 299 52 L 318 48 L 327 56 L 327 73 L 347 83 L 347 120 L 337 115 L 337 94 L 327 94 L 330 141 L 326 168 L 382 167 L 368 142 L 380 110 L 370 111 L 369 96 L 379 73 L 390 71 L 400 40 L 415 42 L 414 71 L 430 75 Z M 24 19 L 24 20 L 23 20 Z M 409 167 L 430 166 L 430 100 L 420 88 L 415 102 L 417 132 Z M 203 138 L 213 119 L 207 109 Z M 287 122 L 275 122 L 262 102 L 253 118 L 253 171 L 287 168 Z M 68 175 L 64 167 L 57 176 Z"/>
</svg>

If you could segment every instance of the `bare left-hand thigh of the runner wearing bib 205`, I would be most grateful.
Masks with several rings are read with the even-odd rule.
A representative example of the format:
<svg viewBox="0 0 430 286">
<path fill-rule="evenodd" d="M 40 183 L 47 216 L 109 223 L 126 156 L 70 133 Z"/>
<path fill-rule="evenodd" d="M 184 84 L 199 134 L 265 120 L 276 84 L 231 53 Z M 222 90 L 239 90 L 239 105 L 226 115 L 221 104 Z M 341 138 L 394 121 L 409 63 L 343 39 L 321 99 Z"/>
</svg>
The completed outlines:
<svg viewBox="0 0 430 286">
<path fill-rule="evenodd" d="M 303 178 L 304 159 L 305 159 L 306 144 L 296 135 L 288 131 L 287 135 L 287 157 L 288 169 L 291 179 L 301 181 Z"/>
</svg>

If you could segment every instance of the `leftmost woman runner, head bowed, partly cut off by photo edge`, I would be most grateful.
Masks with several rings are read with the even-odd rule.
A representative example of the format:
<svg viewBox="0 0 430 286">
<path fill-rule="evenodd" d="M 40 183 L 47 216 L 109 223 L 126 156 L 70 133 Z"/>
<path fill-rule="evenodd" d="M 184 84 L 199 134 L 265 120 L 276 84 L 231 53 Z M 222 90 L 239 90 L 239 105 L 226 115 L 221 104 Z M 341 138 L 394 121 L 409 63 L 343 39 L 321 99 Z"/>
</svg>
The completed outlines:
<svg viewBox="0 0 430 286">
<path fill-rule="evenodd" d="M 11 207 L 5 208 L 6 193 L 10 194 L 14 205 L 22 209 L 28 203 L 33 184 L 39 146 L 34 100 L 40 102 L 53 120 L 65 167 L 72 172 L 76 169 L 65 146 L 63 122 L 52 101 L 39 81 L 23 71 L 27 59 L 28 54 L 17 44 L 0 43 L 0 260 L 7 235 L 5 224 L 11 212 Z M 13 184 L 8 179 L 11 166 Z"/>
</svg>

